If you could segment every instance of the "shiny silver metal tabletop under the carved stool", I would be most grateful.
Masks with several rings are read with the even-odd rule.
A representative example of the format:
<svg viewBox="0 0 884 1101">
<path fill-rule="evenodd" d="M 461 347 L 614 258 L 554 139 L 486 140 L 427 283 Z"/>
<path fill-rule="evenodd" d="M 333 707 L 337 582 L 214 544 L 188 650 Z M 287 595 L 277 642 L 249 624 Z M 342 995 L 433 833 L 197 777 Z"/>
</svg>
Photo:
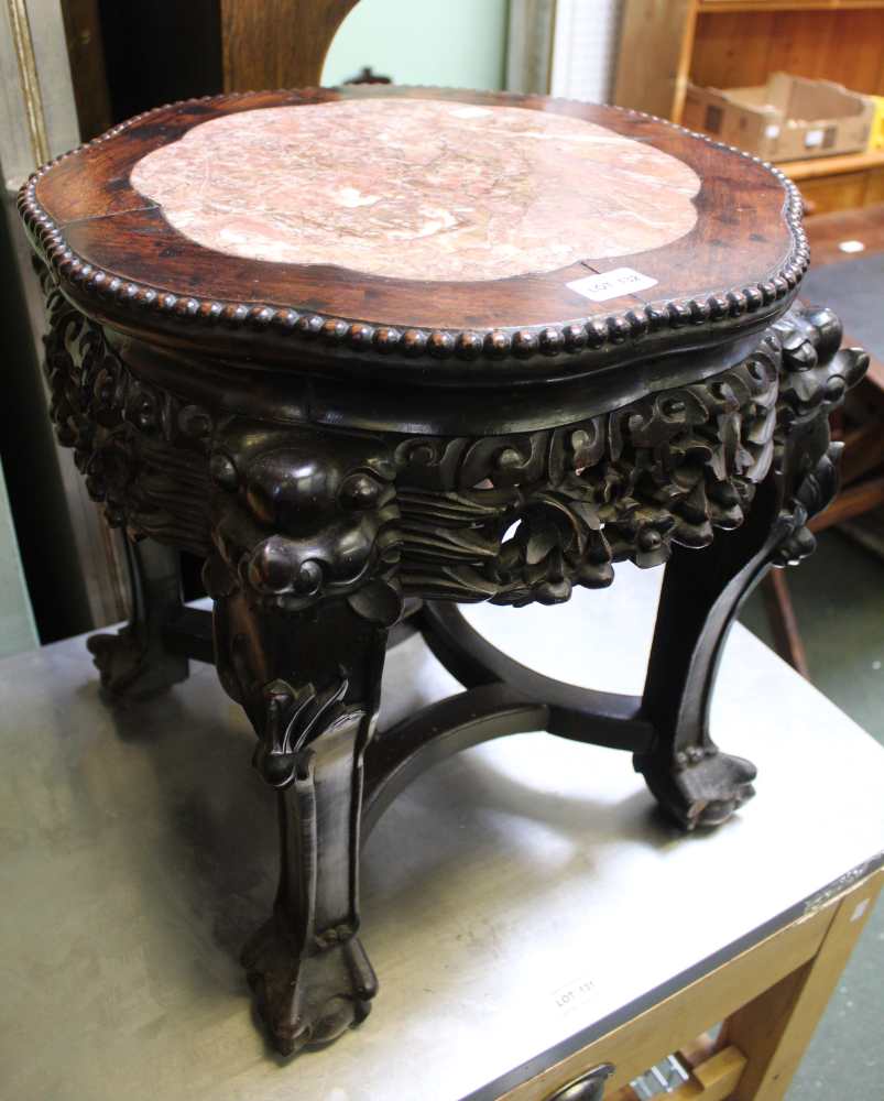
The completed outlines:
<svg viewBox="0 0 884 1101">
<path fill-rule="evenodd" d="M 659 580 L 619 567 L 567 606 L 467 614 L 542 672 L 639 691 Z M 383 719 L 456 688 L 412 637 Z M 8 658 L 0 1097 L 495 1097 L 880 862 L 884 752 L 739 626 L 712 730 L 757 795 L 703 835 L 656 817 L 629 755 L 548 734 L 423 776 L 364 850 L 372 1013 L 286 1062 L 237 961 L 273 894 L 274 799 L 214 669 L 114 710 L 80 639 Z"/>
</svg>

